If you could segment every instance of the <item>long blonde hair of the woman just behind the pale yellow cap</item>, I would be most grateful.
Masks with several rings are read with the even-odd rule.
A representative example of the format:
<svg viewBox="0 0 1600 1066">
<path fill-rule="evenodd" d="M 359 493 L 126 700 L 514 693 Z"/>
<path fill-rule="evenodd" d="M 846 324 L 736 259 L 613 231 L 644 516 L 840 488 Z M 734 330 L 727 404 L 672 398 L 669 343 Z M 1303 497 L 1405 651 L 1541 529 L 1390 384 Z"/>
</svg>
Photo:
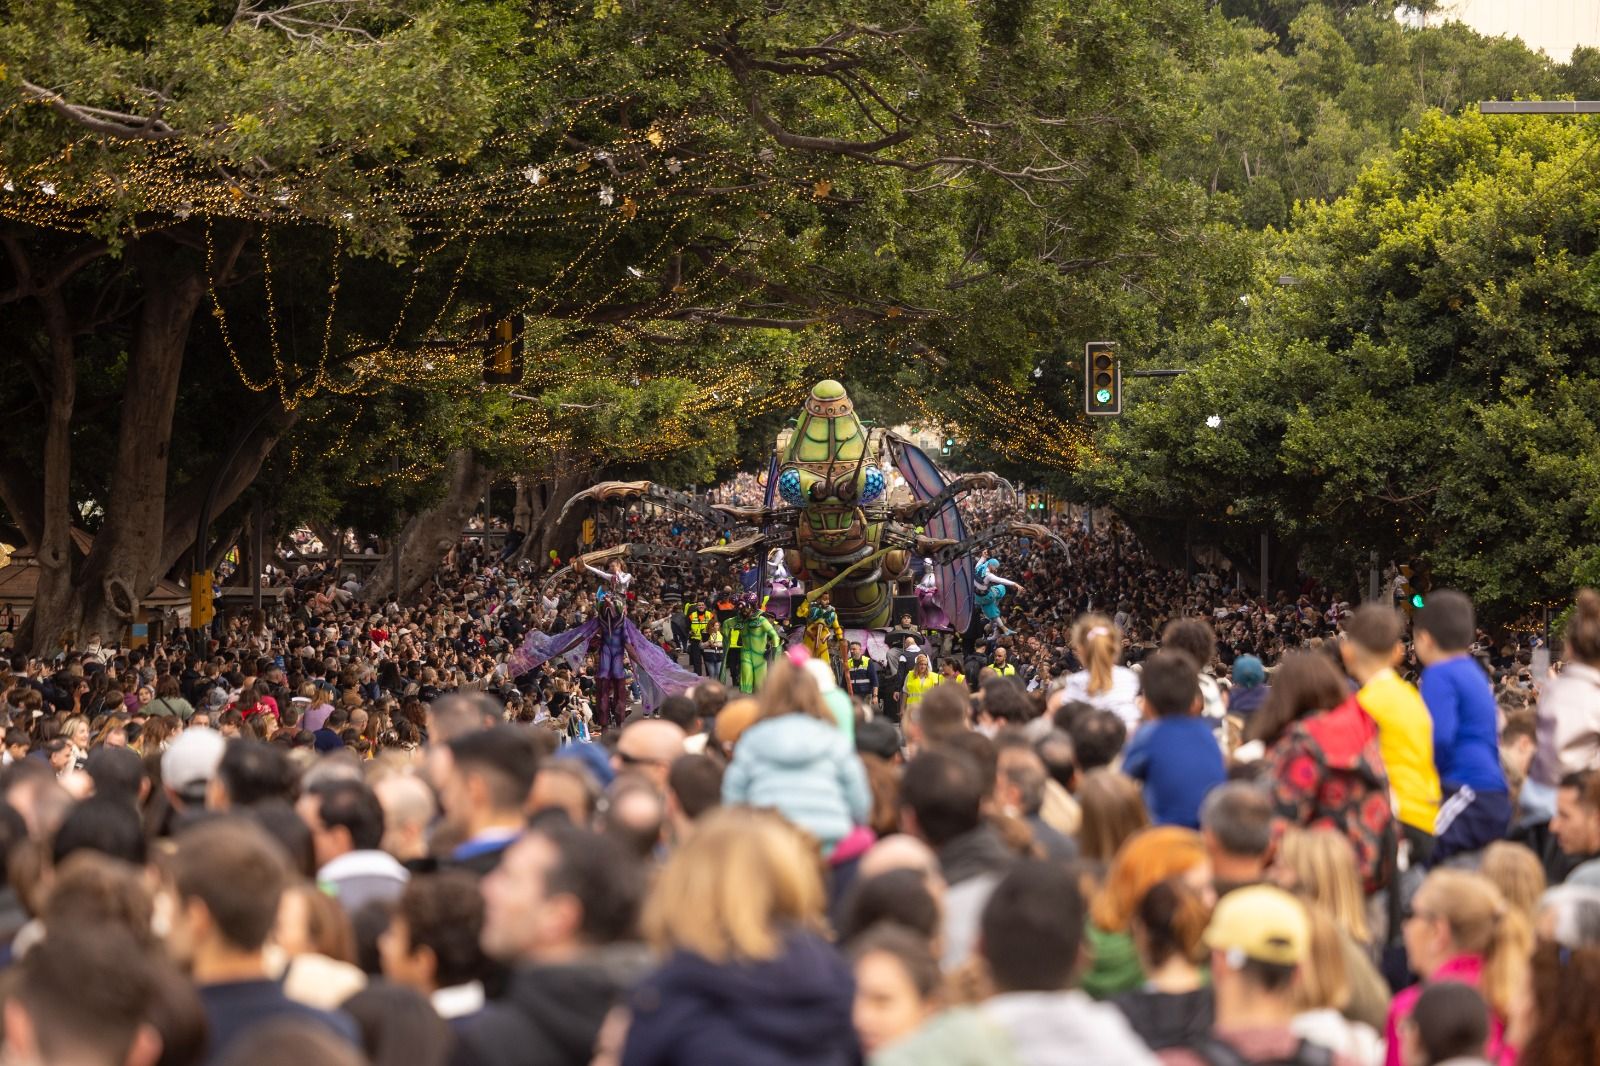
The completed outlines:
<svg viewBox="0 0 1600 1066">
<path fill-rule="evenodd" d="M 1299 896 L 1309 911 L 1328 916 L 1339 941 L 1347 989 L 1339 1010 L 1350 1021 L 1381 1029 L 1389 1016 L 1389 986 L 1370 954 L 1373 933 L 1349 839 L 1336 829 L 1288 829 L 1267 874 L 1280 888 Z"/>
</svg>

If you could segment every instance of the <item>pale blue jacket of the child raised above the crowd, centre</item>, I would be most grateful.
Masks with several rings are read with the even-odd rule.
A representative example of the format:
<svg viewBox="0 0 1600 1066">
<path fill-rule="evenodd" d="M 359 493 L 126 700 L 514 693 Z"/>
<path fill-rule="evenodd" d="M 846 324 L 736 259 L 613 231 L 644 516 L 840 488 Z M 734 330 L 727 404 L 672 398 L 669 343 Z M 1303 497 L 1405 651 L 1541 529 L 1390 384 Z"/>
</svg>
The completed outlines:
<svg viewBox="0 0 1600 1066">
<path fill-rule="evenodd" d="M 739 736 L 722 778 L 730 807 L 770 807 L 826 848 L 872 813 L 867 771 L 845 733 L 808 714 L 757 722 Z"/>
</svg>

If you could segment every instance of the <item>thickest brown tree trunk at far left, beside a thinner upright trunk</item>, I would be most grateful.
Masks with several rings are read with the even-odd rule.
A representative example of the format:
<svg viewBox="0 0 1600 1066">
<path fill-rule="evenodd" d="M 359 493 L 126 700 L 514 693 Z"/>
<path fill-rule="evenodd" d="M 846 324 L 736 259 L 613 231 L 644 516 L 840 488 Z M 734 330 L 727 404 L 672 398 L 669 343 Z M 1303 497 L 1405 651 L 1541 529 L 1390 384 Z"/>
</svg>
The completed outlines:
<svg viewBox="0 0 1600 1066">
<path fill-rule="evenodd" d="M 200 274 L 174 264 L 170 253 L 141 248 L 134 254 L 144 307 L 123 389 L 106 525 L 77 586 L 83 640 L 94 635 L 115 640 L 162 573 L 178 378 L 189 328 L 205 296 Z"/>
</svg>

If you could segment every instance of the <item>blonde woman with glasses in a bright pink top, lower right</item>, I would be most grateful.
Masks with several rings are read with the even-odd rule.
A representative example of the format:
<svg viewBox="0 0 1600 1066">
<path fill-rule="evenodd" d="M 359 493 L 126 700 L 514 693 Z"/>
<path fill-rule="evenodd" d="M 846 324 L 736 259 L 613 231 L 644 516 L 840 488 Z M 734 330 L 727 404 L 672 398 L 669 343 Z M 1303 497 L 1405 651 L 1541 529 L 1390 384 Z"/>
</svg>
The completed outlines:
<svg viewBox="0 0 1600 1066">
<path fill-rule="evenodd" d="M 1411 898 L 1403 933 L 1411 970 L 1422 981 L 1397 994 L 1389 1007 L 1387 1066 L 1400 1066 L 1402 1023 L 1422 989 L 1437 981 L 1470 984 L 1483 996 L 1494 1015 L 1485 1058 L 1501 1066 L 1515 1063 L 1517 1052 L 1506 1044 L 1506 1018 L 1528 980 L 1533 949 L 1533 930 L 1522 911 L 1509 906 L 1488 877 L 1435 869 Z"/>
</svg>

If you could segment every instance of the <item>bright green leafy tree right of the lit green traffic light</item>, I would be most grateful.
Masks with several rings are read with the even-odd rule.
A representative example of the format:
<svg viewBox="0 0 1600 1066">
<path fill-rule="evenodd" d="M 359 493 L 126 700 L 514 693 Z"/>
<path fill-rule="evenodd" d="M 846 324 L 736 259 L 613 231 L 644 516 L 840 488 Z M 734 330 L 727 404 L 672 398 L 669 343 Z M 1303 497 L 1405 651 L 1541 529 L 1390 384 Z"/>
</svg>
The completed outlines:
<svg viewBox="0 0 1600 1066">
<path fill-rule="evenodd" d="M 1595 149 L 1581 123 L 1426 115 L 1302 206 L 1248 309 L 1085 483 L 1235 541 L 1270 528 L 1328 573 L 1424 555 L 1491 611 L 1565 594 L 1600 536 Z"/>
</svg>

